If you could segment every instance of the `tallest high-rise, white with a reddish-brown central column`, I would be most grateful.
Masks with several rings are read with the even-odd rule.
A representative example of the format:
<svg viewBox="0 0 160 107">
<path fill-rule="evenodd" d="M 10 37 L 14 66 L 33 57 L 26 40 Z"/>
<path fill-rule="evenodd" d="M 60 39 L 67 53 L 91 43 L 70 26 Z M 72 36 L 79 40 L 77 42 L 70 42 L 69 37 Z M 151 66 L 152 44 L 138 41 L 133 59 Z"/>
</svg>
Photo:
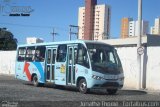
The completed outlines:
<svg viewBox="0 0 160 107">
<path fill-rule="evenodd" d="M 86 6 L 79 8 L 79 39 L 103 40 L 109 38 L 110 6 L 96 5 L 96 3 L 96 0 L 86 0 Z"/>
</svg>

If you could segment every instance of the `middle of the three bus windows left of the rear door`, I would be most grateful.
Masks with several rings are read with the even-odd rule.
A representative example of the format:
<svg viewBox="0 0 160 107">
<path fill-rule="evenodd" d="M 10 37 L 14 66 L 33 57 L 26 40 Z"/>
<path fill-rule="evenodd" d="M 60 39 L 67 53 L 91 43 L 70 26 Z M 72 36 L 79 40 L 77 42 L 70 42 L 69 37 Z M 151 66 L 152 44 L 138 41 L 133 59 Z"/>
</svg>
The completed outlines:
<svg viewBox="0 0 160 107">
<path fill-rule="evenodd" d="M 28 47 L 26 53 L 26 61 L 34 61 L 35 47 Z"/>
</svg>

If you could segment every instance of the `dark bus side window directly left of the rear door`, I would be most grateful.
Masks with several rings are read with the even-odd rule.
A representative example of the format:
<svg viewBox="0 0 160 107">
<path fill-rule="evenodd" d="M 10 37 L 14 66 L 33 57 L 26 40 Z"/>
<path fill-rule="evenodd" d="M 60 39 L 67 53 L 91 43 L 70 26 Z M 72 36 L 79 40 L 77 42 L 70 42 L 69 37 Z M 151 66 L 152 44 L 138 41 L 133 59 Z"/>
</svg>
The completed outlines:
<svg viewBox="0 0 160 107">
<path fill-rule="evenodd" d="M 46 51 L 45 46 L 38 46 L 35 51 L 34 60 L 36 62 L 43 62 L 45 59 L 45 51 Z"/>
</svg>

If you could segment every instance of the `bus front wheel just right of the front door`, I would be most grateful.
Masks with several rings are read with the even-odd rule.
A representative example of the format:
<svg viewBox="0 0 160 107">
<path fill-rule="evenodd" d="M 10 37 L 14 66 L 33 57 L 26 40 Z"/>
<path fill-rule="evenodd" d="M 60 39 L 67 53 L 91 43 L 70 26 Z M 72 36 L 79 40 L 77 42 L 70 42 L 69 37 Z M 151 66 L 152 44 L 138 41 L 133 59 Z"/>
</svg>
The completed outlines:
<svg viewBox="0 0 160 107">
<path fill-rule="evenodd" d="M 87 93 L 87 82 L 85 79 L 81 79 L 79 81 L 78 88 L 80 93 L 83 93 L 83 94 Z"/>
</svg>

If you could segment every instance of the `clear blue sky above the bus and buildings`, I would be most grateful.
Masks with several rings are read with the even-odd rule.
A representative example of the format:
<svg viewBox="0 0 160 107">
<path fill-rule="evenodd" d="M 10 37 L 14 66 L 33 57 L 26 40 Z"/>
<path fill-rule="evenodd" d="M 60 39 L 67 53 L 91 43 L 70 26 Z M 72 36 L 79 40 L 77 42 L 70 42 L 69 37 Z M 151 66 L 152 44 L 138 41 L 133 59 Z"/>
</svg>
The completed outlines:
<svg viewBox="0 0 160 107">
<path fill-rule="evenodd" d="M 123 17 L 137 20 L 138 0 L 97 1 L 98 4 L 111 6 L 111 38 L 120 37 Z M 58 33 L 55 41 L 68 40 L 69 25 L 78 25 L 78 8 L 84 5 L 84 0 L 0 0 L 0 28 L 5 27 L 11 31 L 18 39 L 18 44 L 26 43 L 27 37 L 43 38 L 45 42 L 51 42 L 53 29 Z M 28 6 L 33 11 L 30 16 L 9 16 L 14 11 L 11 10 L 13 6 Z M 160 0 L 143 0 L 142 12 L 143 20 L 153 26 L 155 18 L 160 17 Z M 72 38 L 76 37 L 73 35 Z"/>
</svg>

